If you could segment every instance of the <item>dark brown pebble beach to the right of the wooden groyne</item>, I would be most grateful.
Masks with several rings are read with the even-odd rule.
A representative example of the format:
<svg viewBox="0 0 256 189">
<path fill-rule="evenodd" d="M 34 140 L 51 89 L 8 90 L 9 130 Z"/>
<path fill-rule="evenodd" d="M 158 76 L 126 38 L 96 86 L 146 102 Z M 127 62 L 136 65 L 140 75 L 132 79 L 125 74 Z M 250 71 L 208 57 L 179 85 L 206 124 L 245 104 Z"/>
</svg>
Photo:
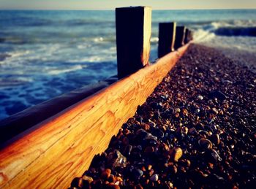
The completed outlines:
<svg viewBox="0 0 256 189">
<path fill-rule="evenodd" d="M 255 87 L 249 66 L 190 45 L 70 188 L 254 188 Z"/>
</svg>

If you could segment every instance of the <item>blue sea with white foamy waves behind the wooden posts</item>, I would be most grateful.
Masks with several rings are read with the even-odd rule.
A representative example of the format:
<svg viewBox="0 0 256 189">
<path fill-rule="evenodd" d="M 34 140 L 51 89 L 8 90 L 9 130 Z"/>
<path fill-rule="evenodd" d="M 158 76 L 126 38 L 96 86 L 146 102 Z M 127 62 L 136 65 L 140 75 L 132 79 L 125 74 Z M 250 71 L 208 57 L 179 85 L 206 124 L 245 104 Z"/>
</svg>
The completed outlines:
<svg viewBox="0 0 256 189">
<path fill-rule="evenodd" d="M 256 9 L 154 10 L 194 31 L 195 42 L 256 52 Z M 114 11 L 0 11 L 0 120 L 116 74 Z"/>
</svg>

